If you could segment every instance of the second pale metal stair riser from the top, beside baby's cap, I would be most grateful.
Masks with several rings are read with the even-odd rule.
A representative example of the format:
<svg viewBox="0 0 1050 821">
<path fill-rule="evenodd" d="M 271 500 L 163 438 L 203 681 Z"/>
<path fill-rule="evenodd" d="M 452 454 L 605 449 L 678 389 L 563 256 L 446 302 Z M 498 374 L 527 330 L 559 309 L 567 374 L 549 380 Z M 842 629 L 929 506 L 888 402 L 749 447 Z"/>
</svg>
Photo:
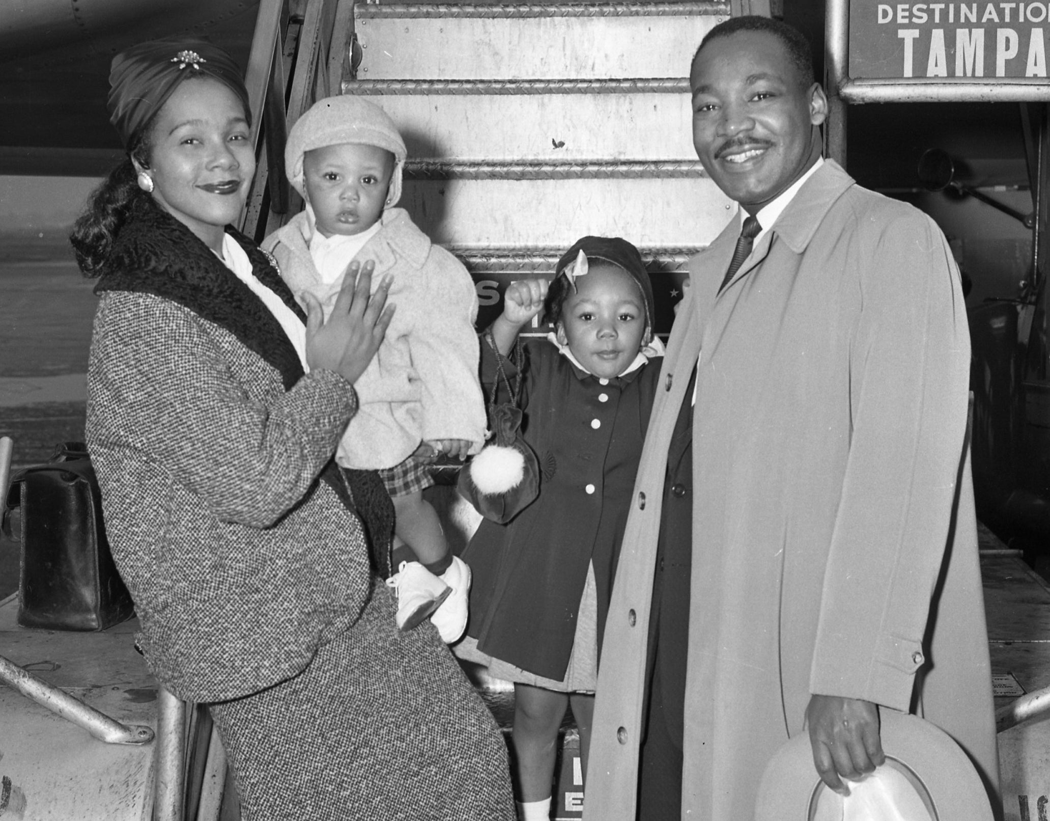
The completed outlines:
<svg viewBox="0 0 1050 821">
<path fill-rule="evenodd" d="M 344 83 L 343 93 L 359 94 L 369 85 Z M 417 93 L 372 99 L 397 124 L 410 161 L 696 160 L 692 110 L 685 90 L 519 96 Z"/>
</svg>

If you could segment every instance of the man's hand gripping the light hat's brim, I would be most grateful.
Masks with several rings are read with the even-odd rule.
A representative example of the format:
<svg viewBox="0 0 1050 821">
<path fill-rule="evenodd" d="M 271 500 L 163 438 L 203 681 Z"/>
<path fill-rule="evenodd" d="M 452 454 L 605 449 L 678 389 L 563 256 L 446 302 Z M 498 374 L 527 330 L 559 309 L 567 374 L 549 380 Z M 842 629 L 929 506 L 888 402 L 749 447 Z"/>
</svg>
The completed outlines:
<svg viewBox="0 0 1050 821">
<path fill-rule="evenodd" d="M 805 720 L 820 780 L 839 795 L 849 795 L 843 778 L 857 781 L 886 760 L 879 736 L 879 711 L 870 701 L 813 696 Z"/>
</svg>

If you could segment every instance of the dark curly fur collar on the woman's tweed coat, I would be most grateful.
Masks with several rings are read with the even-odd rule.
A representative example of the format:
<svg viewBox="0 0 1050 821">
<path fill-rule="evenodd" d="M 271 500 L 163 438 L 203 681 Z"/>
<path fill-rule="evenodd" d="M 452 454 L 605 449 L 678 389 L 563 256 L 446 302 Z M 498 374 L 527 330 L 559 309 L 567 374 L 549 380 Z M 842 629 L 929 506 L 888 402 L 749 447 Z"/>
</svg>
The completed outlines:
<svg viewBox="0 0 1050 821">
<path fill-rule="evenodd" d="M 235 228 L 227 226 L 226 230 L 248 253 L 259 282 L 306 322 L 271 258 Z M 103 291 L 152 293 L 189 308 L 226 328 L 276 368 L 286 390 L 302 376 L 295 348 L 262 301 L 189 228 L 152 200 L 140 199 L 121 228 L 94 287 L 96 293 Z"/>
</svg>

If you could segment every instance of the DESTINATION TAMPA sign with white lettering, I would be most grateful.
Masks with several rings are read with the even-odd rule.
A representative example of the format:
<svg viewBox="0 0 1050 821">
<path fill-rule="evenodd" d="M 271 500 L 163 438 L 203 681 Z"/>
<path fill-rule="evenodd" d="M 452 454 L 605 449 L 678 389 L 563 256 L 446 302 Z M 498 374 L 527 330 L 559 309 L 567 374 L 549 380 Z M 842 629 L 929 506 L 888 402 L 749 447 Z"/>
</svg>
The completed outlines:
<svg viewBox="0 0 1050 821">
<path fill-rule="evenodd" d="M 987 82 L 1047 77 L 1050 2 L 849 0 L 848 74 Z"/>
</svg>

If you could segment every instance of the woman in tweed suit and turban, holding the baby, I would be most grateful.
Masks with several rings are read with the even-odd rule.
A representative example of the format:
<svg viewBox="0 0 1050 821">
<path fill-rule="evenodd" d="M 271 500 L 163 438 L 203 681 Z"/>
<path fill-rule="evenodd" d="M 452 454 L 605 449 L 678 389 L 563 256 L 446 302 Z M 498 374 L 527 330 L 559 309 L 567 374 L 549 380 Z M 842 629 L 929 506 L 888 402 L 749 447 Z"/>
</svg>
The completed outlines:
<svg viewBox="0 0 1050 821">
<path fill-rule="evenodd" d="M 491 716 L 436 631 L 394 627 L 365 534 L 388 550 L 388 497 L 332 461 L 390 283 L 370 301 L 371 270 L 348 276 L 304 324 L 229 227 L 255 162 L 225 53 L 144 43 L 110 84 L 128 159 L 71 240 L 101 295 L 87 438 L 151 671 L 210 703 L 245 819 L 511 818 Z"/>
</svg>

